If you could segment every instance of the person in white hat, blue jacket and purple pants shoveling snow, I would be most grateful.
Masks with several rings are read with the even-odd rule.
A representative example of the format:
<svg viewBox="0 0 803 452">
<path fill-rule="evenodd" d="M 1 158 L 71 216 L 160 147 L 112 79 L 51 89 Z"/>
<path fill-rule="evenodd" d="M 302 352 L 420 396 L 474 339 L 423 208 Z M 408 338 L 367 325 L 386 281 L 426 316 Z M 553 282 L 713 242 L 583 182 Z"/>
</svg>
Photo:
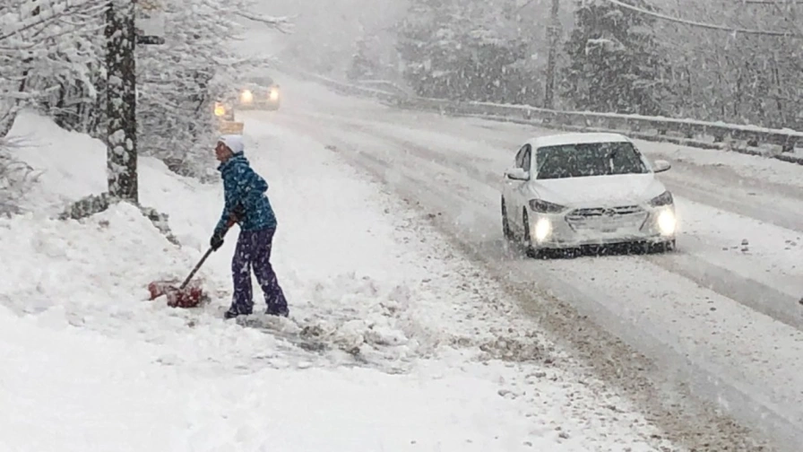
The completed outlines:
<svg viewBox="0 0 803 452">
<path fill-rule="evenodd" d="M 237 248 L 231 260 L 234 295 L 231 307 L 224 317 L 233 318 L 252 313 L 252 268 L 268 305 L 265 313 L 287 317 L 287 300 L 271 265 L 271 248 L 277 222 L 271 202 L 265 195 L 268 183 L 251 168 L 244 151 L 241 135 L 222 135 L 215 147 L 215 156 L 220 161 L 218 170 L 223 178 L 225 202 L 220 221 L 210 239 L 212 250 L 217 251 L 223 245 L 223 237 L 229 230 L 230 222 L 237 222 L 240 226 Z"/>
</svg>

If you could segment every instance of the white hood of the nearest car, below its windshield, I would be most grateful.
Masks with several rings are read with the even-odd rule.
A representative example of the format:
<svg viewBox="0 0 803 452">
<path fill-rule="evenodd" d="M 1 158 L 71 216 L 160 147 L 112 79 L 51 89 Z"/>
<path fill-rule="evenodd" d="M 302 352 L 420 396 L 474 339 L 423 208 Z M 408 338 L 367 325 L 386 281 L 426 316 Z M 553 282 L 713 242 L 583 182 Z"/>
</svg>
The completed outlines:
<svg viewBox="0 0 803 452">
<path fill-rule="evenodd" d="M 530 189 L 533 197 L 569 207 L 638 204 L 666 191 L 654 173 L 536 179 Z"/>
</svg>

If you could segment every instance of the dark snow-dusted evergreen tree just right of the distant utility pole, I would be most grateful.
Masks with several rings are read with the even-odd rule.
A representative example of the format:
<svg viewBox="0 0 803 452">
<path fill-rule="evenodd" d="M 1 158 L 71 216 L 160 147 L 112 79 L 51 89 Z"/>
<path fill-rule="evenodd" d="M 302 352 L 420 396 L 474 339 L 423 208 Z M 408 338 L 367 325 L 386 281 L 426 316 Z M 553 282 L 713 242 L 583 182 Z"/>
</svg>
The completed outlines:
<svg viewBox="0 0 803 452">
<path fill-rule="evenodd" d="M 643 0 L 623 0 L 654 11 Z M 661 115 L 668 110 L 667 52 L 654 18 L 605 1 L 578 0 L 566 42 L 564 95 L 575 109 Z"/>
</svg>

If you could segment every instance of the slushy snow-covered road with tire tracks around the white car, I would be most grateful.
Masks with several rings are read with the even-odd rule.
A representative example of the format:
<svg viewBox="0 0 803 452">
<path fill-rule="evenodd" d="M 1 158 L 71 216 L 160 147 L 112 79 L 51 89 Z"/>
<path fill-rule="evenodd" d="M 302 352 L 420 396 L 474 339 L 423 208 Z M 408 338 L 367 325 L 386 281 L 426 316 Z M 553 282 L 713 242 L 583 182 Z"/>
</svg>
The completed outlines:
<svg viewBox="0 0 803 452">
<path fill-rule="evenodd" d="M 690 387 L 785 448 L 803 443 L 799 166 L 640 143 L 674 165 L 661 178 L 677 194 L 678 252 L 534 261 L 505 251 L 496 187 L 523 140 L 545 131 L 395 110 L 291 79 L 281 84 L 282 109 L 249 113 L 246 129 L 273 122 L 314 137 L 414 199 L 518 291 L 542 326 L 565 337 L 599 375 L 631 389 L 666 430 L 695 430 L 699 438 L 689 441 L 698 447 L 734 435 L 711 411 L 692 411 L 686 396 L 669 398 L 669 387 Z"/>
</svg>

